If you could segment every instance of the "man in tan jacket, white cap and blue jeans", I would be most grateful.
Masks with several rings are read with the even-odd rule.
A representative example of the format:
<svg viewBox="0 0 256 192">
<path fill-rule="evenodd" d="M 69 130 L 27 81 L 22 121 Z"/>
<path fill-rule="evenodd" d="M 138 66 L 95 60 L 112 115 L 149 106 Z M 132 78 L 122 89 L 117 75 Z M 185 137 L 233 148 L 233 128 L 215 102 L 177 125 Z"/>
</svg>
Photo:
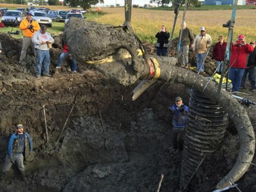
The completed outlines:
<svg viewBox="0 0 256 192">
<path fill-rule="evenodd" d="M 201 33 L 195 37 L 193 53 L 196 53 L 196 70 L 204 72 L 204 61 L 207 52 L 212 45 L 212 38 L 209 34 L 206 34 L 205 27 L 201 27 Z"/>
</svg>

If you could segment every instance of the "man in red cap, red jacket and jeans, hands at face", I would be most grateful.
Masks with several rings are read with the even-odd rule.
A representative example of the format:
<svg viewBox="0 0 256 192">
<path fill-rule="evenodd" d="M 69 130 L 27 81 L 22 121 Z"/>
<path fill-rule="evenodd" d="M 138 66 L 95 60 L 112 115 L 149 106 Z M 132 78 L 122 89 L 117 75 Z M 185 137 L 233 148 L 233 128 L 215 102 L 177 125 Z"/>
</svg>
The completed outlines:
<svg viewBox="0 0 256 192">
<path fill-rule="evenodd" d="M 229 63 L 229 76 L 232 81 L 232 91 L 239 91 L 241 80 L 246 68 L 247 54 L 253 52 L 253 47 L 245 44 L 244 35 L 239 35 L 236 44 L 232 44 L 231 58 Z"/>
</svg>

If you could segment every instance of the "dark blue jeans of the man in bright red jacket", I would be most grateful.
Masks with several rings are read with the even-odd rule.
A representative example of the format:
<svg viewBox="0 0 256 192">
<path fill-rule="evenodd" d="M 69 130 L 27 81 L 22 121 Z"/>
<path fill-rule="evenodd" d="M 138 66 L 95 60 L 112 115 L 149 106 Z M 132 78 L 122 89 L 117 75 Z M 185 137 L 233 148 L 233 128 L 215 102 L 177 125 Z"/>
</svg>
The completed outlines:
<svg viewBox="0 0 256 192">
<path fill-rule="evenodd" d="M 232 91 L 239 91 L 244 69 L 231 67 L 229 69 L 228 78 L 232 81 Z"/>
</svg>

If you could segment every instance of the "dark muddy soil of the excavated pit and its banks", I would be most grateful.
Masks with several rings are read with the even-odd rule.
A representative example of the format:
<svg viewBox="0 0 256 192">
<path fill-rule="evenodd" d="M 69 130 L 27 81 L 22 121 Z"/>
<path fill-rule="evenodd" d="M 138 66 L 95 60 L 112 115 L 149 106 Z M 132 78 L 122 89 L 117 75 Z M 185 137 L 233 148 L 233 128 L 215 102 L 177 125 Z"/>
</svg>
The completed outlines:
<svg viewBox="0 0 256 192">
<path fill-rule="evenodd" d="M 131 92 L 139 82 L 123 86 L 80 62 L 78 73 L 71 74 L 70 56 L 55 69 L 61 38 L 54 37 L 50 50 L 52 77 L 36 78 L 31 50 L 19 65 L 22 39 L 0 34 L 0 168 L 17 122 L 30 134 L 35 151 L 34 161 L 25 165 L 28 180 L 21 180 L 14 165 L 0 191 L 156 191 L 161 174 L 161 191 L 179 191 L 182 151 L 172 149 L 167 108 L 178 95 L 188 105 L 190 88 L 158 81 L 132 101 Z M 147 45 L 148 50 L 151 47 Z M 215 67 L 210 56 L 205 63 L 209 75 Z M 194 55 L 190 57 L 195 65 Z M 255 101 L 249 82 L 246 85 L 240 96 Z M 256 106 L 244 107 L 255 129 Z M 238 150 L 237 133 L 230 124 L 218 150 L 195 173 L 196 191 L 214 190 L 233 167 Z M 240 190 L 256 191 L 255 171 L 251 165 L 238 180 Z"/>
</svg>

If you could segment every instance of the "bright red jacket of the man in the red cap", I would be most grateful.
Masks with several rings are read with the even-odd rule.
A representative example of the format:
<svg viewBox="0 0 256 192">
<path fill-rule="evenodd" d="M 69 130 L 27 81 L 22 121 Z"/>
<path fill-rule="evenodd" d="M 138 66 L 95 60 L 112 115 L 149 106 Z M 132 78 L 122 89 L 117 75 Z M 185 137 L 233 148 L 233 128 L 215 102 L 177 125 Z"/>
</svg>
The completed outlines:
<svg viewBox="0 0 256 192">
<path fill-rule="evenodd" d="M 229 67 L 246 68 L 247 54 L 253 52 L 254 48 L 249 44 L 241 45 L 232 44 L 231 58 Z"/>
</svg>

